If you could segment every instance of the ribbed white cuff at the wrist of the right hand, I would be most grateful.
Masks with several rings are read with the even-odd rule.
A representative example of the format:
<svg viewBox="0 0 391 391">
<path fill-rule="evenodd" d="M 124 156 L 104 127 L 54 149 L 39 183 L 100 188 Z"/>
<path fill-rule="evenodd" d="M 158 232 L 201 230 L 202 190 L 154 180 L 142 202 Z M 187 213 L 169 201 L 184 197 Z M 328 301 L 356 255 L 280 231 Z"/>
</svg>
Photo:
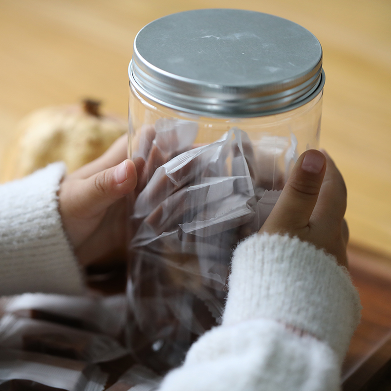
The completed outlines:
<svg viewBox="0 0 391 391">
<path fill-rule="evenodd" d="M 234 253 L 223 325 L 274 319 L 325 341 L 342 360 L 360 310 L 346 268 L 310 243 L 256 234 Z"/>
</svg>

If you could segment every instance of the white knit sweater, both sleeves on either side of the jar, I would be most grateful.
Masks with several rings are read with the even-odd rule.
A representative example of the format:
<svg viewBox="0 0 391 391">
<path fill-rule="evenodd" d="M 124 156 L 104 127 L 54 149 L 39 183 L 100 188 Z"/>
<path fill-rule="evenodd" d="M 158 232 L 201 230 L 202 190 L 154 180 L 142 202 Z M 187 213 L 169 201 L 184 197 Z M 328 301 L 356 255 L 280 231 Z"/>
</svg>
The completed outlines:
<svg viewBox="0 0 391 391">
<path fill-rule="evenodd" d="M 0 293 L 81 294 L 58 211 L 62 163 L 0 186 Z M 360 317 L 347 270 L 312 244 L 253 235 L 233 256 L 223 323 L 160 391 L 339 390 Z"/>
</svg>

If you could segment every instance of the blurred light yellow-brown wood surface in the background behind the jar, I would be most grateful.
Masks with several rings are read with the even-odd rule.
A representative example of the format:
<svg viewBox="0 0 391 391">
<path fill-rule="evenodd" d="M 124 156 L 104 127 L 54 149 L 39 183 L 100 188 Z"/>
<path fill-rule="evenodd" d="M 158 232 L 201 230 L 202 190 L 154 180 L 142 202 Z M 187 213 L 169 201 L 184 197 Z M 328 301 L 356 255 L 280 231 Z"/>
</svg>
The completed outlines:
<svg viewBox="0 0 391 391">
<path fill-rule="evenodd" d="M 324 49 L 321 146 L 348 186 L 353 243 L 391 255 L 391 2 L 387 0 L 0 0 L 0 180 L 10 179 L 18 121 L 34 109 L 104 101 L 124 117 L 137 31 L 195 8 L 278 15 Z"/>
</svg>

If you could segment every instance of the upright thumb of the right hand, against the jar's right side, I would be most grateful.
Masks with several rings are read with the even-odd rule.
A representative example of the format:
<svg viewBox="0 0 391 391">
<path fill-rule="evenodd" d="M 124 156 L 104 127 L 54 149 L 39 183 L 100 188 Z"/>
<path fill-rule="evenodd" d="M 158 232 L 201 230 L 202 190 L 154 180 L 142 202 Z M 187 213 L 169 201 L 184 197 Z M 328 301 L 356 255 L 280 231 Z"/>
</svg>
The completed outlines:
<svg viewBox="0 0 391 391">
<path fill-rule="evenodd" d="M 317 150 L 300 155 L 262 231 L 289 232 L 306 227 L 318 200 L 326 157 Z"/>
</svg>

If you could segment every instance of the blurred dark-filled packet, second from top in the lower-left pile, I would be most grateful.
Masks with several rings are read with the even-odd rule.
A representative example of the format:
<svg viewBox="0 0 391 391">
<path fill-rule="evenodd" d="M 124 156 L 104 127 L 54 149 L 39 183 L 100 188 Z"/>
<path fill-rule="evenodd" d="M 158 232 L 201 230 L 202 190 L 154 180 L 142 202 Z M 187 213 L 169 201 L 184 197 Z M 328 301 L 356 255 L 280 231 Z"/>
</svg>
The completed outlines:
<svg viewBox="0 0 391 391">
<path fill-rule="evenodd" d="M 6 314 L 0 320 L 0 347 L 36 351 L 99 363 L 128 353 L 112 337 Z"/>
</svg>

